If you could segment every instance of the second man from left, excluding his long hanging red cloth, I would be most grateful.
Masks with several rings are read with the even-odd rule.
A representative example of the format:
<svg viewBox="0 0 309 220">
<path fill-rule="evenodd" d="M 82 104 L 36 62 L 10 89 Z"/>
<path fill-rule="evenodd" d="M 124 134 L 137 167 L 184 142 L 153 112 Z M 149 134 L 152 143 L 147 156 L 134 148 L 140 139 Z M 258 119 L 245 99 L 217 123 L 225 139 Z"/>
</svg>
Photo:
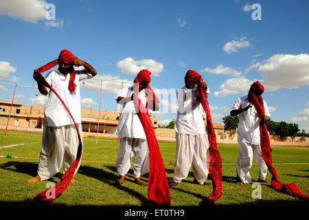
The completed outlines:
<svg viewBox="0 0 309 220">
<path fill-rule="evenodd" d="M 136 88 L 133 86 L 121 89 L 116 96 L 116 101 L 120 104 L 121 114 L 116 129 L 116 135 L 119 137 L 119 150 L 117 156 L 117 172 L 119 179 L 115 182 L 117 186 L 124 184 L 124 175 L 130 169 L 130 157 L 133 159 L 133 171 L 135 176 L 135 184 L 147 186 L 140 177 L 149 172 L 148 162 L 148 144 L 146 134 L 141 121 L 135 111 L 133 95 L 137 94 L 141 100 L 141 104 L 146 107 L 147 102 L 150 104 L 147 108 L 154 111 L 159 109 L 159 104 L 151 94 L 147 92 L 146 87 L 150 83 L 150 75 L 147 69 L 143 69 L 137 74 L 135 81 Z M 138 84 L 138 85 L 137 85 Z"/>
</svg>

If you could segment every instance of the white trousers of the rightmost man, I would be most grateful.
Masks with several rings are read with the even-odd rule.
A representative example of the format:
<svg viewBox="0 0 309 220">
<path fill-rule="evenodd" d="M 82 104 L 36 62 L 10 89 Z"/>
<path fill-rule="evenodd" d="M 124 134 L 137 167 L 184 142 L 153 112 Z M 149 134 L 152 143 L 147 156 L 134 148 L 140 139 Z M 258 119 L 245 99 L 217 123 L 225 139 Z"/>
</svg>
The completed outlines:
<svg viewBox="0 0 309 220">
<path fill-rule="evenodd" d="M 238 138 L 239 154 L 236 163 L 236 169 L 238 177 L 244 184 L 251 184 L 251 176 L 249 170 L 253 162 L 253 154 L 256 164 L 259 167 L 258 177 L 264 180 L 267 175 L 267 165 L 262 157 L 262 151 L 260 144 L 249 144 L 243 139 Z"/>
</svg>

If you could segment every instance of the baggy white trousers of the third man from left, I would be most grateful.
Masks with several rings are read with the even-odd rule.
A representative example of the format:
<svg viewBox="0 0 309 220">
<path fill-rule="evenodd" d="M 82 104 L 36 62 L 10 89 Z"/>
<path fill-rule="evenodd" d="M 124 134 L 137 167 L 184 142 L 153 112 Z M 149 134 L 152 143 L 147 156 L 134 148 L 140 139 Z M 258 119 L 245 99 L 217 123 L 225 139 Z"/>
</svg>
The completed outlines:
<svg viewBox="0 0 309 220">
<path fill-rule="evenodd" d="M 176 158 L 173 181 L 181 182 L 189 174 L 192 166 L 193 175 L 198 184 L 203 184 L 208 176 L 206 134 L 187 135 L 176 133 Z"/>
</svg>

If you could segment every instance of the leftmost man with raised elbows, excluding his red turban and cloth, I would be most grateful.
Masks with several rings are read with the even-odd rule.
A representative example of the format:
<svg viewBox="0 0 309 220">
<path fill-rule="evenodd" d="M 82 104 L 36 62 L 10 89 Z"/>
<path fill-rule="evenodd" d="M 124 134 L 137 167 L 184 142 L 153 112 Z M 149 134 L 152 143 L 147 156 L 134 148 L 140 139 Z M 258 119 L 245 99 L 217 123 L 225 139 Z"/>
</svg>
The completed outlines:
<svg viewBox="0 0 309 220">
<path fill-rule="evenodd" d="M 75 91 L 71 93 L 68 87 L 71 78 L 70 72 L 73 65 L 83 65 L 84 68 L 78 68 L 80 70 L 75 70 L 76 76 L 73 83 L 75 83 L 76 88 Z M 45 77 L 47 83 L 52 86 L 71 112 L 71 115 L 78 126 L 78 132 L 80 133 L 81 139 L 80 81 L 92 78 L 96 74 L 95 69 L 93 69 L 91 65 L 76 59 L 73 63 L 59 63 L 59 68 L 47 73 L 47 76 Z M 44 181 L 53 177 L 60 171 L 62 163 L 63 172 L 65 173 L 76 159 L 79 145 L 76 126 L 63 104 L 56 97 L 54 92 L 42 85 L 42 81 L 36 72 L 34 73 L 34 79 L 38 82 L 41 94 L 44 94 L 45 96 L 48 95 L 48 99 L 44 107 L 44 128 L 42 148 L 38 162 L 38 175 L 29 179 L 28 182 Z M 74 175 L 77 173 L 79 167 L 80 163 L 78 164 Z M 74 179 L 72 179 L 71 182 L 77 183 Z"/>
</svg>

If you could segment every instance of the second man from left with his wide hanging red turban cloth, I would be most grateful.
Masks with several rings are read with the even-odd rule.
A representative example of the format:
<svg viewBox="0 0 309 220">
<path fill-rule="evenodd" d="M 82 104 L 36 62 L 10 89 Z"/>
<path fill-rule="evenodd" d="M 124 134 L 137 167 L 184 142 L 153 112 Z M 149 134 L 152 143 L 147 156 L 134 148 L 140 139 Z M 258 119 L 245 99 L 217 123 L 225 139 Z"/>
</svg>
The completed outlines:
<svg viewBox="0 0 309 220">
<path fill-rule="evenodd" d="M 121 114 L 116 129 L 119 137 L 116 186 L 124 184 L 124 175 L 130 169 L 133 159 L 135 184 L 148 185 L 148 198 L 158 206 L 170 205 L 170 189 L 155 130 L 148 115 L 148 109 L 159 110 L 159 100 L 152 91 L 150 72 L 143 69 L 137 74 L 134 85 L 121 89 L 115 98 L 121 104 Z M 148 184 L 140 177 L 149 172 Z"/>
</svg>

